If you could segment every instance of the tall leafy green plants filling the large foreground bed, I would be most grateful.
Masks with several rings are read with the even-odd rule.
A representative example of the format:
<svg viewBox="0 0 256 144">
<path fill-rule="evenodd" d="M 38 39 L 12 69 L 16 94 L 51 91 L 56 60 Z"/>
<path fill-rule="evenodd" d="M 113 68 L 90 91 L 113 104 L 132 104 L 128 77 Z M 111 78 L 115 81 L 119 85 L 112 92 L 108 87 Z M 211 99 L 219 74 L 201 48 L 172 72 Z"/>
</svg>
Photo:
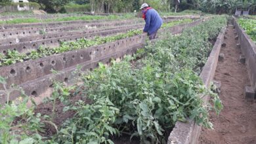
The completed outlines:
<svg viewBox="0 0 256 144">
<path fill-rule="evenodd" d="M 192 25 L 183 25 L 187 26 Z M 26 109 L 28 97 L 20 98 L 17 105 L 5 104 L 0 115 L 5 124 L 1 129 L 4 134 L 0 136 L 1 143 L 113 143 L 115 137 L 122 135 L 131 139 L 137 137 L 141 143 L 166 143 L 166 136 L 177 120 L 185 121 L 190 117 L 198 124 L 211 127 L 208 107 L 203 105 L 200 96 L 213 96 L 217 112 L 221 103 L 203 87 L 198 73 L 212 48 L 208 40 L 215 39 L 224 26 L 226 18 L 215 16 L 199 26 L 185 29 L 179 36 L 174 37 L 165 30 L 165 39 L 155 45 L 148 44 L 135 57 L 127 56 L 120 63 L 112 61 L 110 67 L 102 64 L 109 62 L 109 57 L 105 57 L 93 62 L 98 69 L 87 74 L 77 71 L 81 73 L 79 86 L 65 88 L 60 82 L 52 82 L 53 96 L 47 101 L 51 103 L 48 113 L 40 107 L 35 115 L 33 107 Z M 146 35 L 132 39 L 136 37 Z M 93 50 L 97 51 L 104 52 L 104 47 L 102 51 Z M 118 58 L 116 56 L 114 58 Z M 81 70 L 88 69 L 89 65 L 83 63 Z M 61 71 L 56 77 L 66 77 L 64 81 L 68 82 L 71 70 L 66 74 Z M 0 82 L 5 84 L 4 79 Z M 62 102 L 62 108 L 57 101 Z M 17 128 L 18 134 L 14 135 Z"/>
</svg>

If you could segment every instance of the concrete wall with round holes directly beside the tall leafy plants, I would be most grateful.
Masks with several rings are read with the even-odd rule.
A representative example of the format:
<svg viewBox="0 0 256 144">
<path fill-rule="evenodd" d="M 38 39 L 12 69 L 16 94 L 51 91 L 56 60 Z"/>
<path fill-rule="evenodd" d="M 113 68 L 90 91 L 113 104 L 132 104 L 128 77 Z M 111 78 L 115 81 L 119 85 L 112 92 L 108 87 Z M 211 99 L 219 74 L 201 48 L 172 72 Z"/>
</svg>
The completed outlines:
<svg viewBox="0 0 256 144">
<path fill-rule="evenodd" d="M 181 33 L 185 27 L 196 26 L 203 20 L 198 20 L 190 24 L 182 24 L 168 29 L 171 33 Z M 163 31 L 163 30 L 161 30 Z M 166 31 L 166 29 L 165 29 Z M 51 95 L 53 80 L 64 81 L 73 84 L 73 71 L 77 65 L 82 66 L 82 71 L 88 71 L 97 67 L 98 62 L 109 63 L 111 58 L 121 59 L 125 54 L 133 54 L 137 48 L 144 46 L 146 34 L 121 39 L 116 42 L 106 43 L 100 46 L 93 46 L 81 50 L 73 50 L 62 54 L 55 54 L 38 60 L 29 60 L 23 63 L 16 63 L 1 67 L 1 75 L 7 77 L 7 87 L 12 83 L 24 88 L 28 96 L 41 99 L 43 96 Z M 56 75 L 50 72 L 51 69 L 60 71 Z M 3 90 L 3 86 L 0 85 Z M 12 94 L 11 99 L 15 99 L 19 94 Z M 5 103 L 5 96 L 0 97 L 0 103 Z M 39 100 L 40 101 L 40 100 Z"/>
</svg>

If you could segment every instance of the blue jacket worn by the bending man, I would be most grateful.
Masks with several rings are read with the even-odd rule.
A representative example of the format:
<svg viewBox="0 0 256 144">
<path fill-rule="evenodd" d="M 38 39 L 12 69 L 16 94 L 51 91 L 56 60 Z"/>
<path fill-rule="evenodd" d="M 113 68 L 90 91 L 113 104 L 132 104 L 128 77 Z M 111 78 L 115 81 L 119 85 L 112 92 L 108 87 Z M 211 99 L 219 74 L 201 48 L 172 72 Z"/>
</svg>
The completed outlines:
<svg viewBox="0 0 256 144">
<path fill-rule="evenodd" d="M 146 24 L 143 31 L 148 32 L 148 35 L 151 35 L 157 31 L 163 24 L 163 20 L 161 19 L 158 12 L 154 9 L 147 10 L 145 22 Z"/>
</svg>

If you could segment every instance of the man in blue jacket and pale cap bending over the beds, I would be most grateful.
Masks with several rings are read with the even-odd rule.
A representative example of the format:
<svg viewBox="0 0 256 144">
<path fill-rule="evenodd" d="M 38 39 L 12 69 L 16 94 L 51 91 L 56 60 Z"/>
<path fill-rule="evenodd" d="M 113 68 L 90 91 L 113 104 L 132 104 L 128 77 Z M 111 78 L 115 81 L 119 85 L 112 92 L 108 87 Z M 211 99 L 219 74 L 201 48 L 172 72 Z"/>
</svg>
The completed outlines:
<svg viewBox="0 0 256 144">
<path fill-rule="evenodd" d="M 149 39 L 156 39 L 156 33 L 163 24 L 163 20 L 158 12 L 146 3 L 143 3 L 140 9 L 142 9 L 142 18 L 146 22 L 143 32 L 148 33 Z"/>
</svg>

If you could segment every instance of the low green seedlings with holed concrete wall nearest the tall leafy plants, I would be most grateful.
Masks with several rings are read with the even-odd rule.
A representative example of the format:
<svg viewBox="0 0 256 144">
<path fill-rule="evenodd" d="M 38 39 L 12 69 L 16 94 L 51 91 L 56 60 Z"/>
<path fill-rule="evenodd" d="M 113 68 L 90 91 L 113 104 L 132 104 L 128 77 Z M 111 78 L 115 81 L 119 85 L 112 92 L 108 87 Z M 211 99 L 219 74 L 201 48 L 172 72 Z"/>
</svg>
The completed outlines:
<svg viewBox="0 0 256 144">
<path fill-rule="evenodd" d="M 163 24 L 163 29 L 187 22 L 191 22 L 191 20 L 179 20 Z M 195 22 L 195 24 L 198 22 Z M 173 32 L 177 33 L 177 30 L 181 31 L 182 29 L 175 28 Z M 16 62 L 28 62 L 16 63 L 8 66 L 8 68 L 3 67 L 1 68 L 1 73 L 3 73 L 2 75 L 6 75 L 5 77 L 8 77 L 10 74 L 12 75 L 12 77 L 8 78 L 7 86 L 10 86 L 12 83 L 23 83 L 22 87 L 26 87 L 24 90 L 28 95 L 37 96 L 37 94 L 42 94 L 45 91 L 44 88 L 49 88 L 49 86 L 52 85 L 53 82 L 51 82 L 51 79 L 53 78 L 49 75 L 51 73 L 51 69 L 59 71 L 62 69 L 72 68 L 72 66 L 75 68 L 75 65 L 78 63 L 84 63 L 83 65 L 87 65 L 87 69 L 91 69 L 91 67 L 96 66 L 99 60 L 108 62 L 111 56 L 115 56 L 116 54 L 117 56 L 115 57 L 119 58 L 120 56 L 123 56 L 125 52 L 129 53 L 129 51 L 127 51 L 129 49 L 127 48 L 131 48 L 132 50 L 133 47 L 138 48 L 139 46 L 142 46 L 144 43 L 144 36 L 142 37 L 140 34 L 141 30 L 135 30 L 110 37 L 96 37 L 91 40 L 80 39 L 74 43 L 63 43 L 61 46 L 56 48 L 42 47 L 39 48 L 39 50 L 34 50 L 28 54 L 20 54 L 15 50 L 9 51 L 7 55 L 3 55 L 3 63 L 9 63 L 7 65 L 10 65 Z M 134 41 L 136 41 L 136 43 L 134 43 Z M 58 55 L 54 56 L 54 54 Z M 108 56 L 109 54 L 110 56 Z M 26 68 L 24 65 L 26 65 Z M 59 77 L 58 79 L 71 79 L 72 76 L 68 76 L 68 73 L 66 75 L 62 75 L 63 78 Z M 37 80 L 39 77 L 42 77 L 41 79 L 43 82 L 39 82 Z M 33 79 L 35 79 L 37 84 L 33 84 Z M 32 82 L 28 84 L 28 81 Z M 31 84 L 33 85 L 32 87 Z"/>
</svg>

